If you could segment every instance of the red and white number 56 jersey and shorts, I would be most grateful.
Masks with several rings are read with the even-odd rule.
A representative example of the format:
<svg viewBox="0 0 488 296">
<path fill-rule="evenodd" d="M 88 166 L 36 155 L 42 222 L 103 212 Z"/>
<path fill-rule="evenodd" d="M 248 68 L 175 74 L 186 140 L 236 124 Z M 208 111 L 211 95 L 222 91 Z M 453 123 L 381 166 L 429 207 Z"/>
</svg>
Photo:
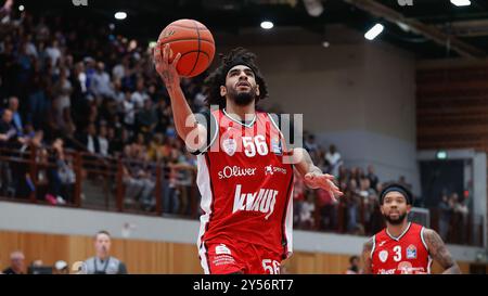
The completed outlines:
<svg viewBox="0 0 488 296">
<path fill-rule="evenodd" d="M 243 124 L 224 110 L 210 146 L 197 156 L 202 194 L 198 250 L 205 273 L 278 273 L 292 254 L 293 165 L 267 113 Z"/>
</svg>

